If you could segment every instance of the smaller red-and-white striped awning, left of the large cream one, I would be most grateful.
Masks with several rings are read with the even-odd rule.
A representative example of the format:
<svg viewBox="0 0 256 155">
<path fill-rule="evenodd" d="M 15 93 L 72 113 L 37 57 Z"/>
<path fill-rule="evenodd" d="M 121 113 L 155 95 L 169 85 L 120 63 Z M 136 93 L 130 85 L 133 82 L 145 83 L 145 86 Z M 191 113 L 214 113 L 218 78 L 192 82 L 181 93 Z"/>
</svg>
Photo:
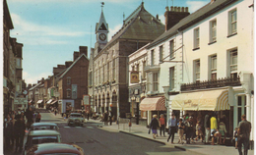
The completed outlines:
<svg viewBox="0 0 256 155">
<path fill-rule="evenodd" d="M 141 101 L 141 111 L 165 111 L 164 97 L 146 97 Z"/>
</svg>

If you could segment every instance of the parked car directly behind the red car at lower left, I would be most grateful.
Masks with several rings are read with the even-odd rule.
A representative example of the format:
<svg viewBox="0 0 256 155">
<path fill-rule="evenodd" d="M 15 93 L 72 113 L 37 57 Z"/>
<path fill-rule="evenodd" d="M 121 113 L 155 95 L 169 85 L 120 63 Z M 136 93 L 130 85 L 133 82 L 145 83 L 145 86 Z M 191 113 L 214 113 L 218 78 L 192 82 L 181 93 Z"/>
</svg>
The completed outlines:
<svg viewBox="0 0 256 155">
<path fill-rule="evenodd" d="M 57 130 L 42 129 L 31 130 L 27 137 L 25 144 L 25 154 L 35 144 L 49 143 L 49 142 L 61 142 L 61 135 Z"/>
</svg>

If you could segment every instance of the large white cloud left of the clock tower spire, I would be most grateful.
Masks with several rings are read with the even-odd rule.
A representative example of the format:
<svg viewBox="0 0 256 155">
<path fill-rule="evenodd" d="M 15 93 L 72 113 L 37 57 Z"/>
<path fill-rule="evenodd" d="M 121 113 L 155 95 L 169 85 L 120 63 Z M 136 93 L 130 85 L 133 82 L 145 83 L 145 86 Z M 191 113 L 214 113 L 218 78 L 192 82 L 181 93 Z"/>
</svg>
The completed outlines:
<svg viewBox="0 0 256 155">
<path fill-rule="evenodd" d="M 73 31 L 72 27 L 37 25 L 23 20 L 17 14 L 11 14 L 11 17 L 15 26 L 11 35 L 19 37 L 27 45 L 37 44 L 38 41 L 40 44 L 66 44 L 66 41 L 61 40 L 65 36 L 77 37 L 87 34 L 83 31 Z"/>
</svg>

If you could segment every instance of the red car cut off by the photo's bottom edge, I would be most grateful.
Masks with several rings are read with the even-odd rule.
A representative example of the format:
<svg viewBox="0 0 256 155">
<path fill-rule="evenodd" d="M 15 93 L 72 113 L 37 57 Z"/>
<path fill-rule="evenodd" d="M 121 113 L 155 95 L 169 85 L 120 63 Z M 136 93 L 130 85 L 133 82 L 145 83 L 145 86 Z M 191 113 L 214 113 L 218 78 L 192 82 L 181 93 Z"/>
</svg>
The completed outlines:
<svg viewBox="0 0 256 155">
<path fill-rule="evenodd" d="M 33 145 L 27 155 L 85 155 L 83 148 L 68 143 L 43 143 Z"/>
</svg>

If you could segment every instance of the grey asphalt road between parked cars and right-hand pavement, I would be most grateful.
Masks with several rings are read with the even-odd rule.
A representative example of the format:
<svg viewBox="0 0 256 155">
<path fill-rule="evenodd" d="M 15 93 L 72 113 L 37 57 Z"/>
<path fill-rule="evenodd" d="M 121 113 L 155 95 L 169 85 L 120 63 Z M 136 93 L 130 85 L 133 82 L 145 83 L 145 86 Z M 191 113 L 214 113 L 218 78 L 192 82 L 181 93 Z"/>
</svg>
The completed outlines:
<svg viewBox="0 0 256 155">
<path fill-rule="evenodd" d="M 58 125 L 62 142 L 75 143 L 89 155 L 193 155 L 170 145 L 141 137 L 125 134 L 116 129 L 98 127 L 98 123 L 88 122 L 84 127 L 69 127 L 66 121 L 52 113 L 41 112 L 41 122 L 54 122 Z"/>
</svg>

